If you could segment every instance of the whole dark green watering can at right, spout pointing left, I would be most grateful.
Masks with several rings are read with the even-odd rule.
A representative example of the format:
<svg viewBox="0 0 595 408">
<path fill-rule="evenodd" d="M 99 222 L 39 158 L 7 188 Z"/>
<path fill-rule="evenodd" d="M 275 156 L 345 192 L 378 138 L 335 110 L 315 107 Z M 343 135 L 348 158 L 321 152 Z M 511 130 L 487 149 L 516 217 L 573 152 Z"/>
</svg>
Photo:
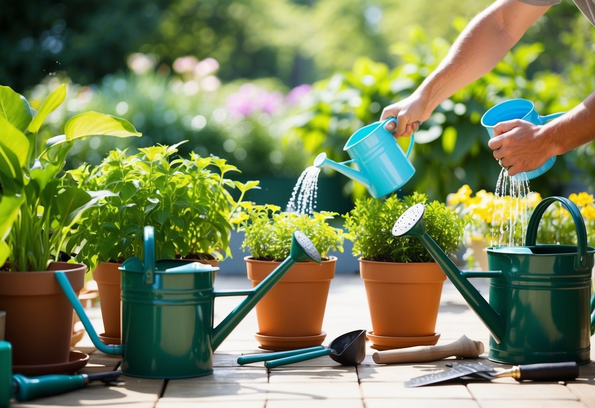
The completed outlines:
<svg viewBox="0 0 595 408">
<path fill-rule="evenodd" d="M 546 208 L 559 202 L 577 227 L 578 245 L 537 245 L 537 227 Z M 490 360 L 509 364 L 590 361 L 595 326 L 591 270 L 595 248 L 577 206 L 564 197 L 548 197 L 536 207 L 525 246 L 487 248 L 491 271 L 461 271 L 425 233 L 424 205 L 399 217 L 394 236 L 419 238 L 491 332 Z M 468 278 L 490 279 L 488 303 Z"/>
</svg>

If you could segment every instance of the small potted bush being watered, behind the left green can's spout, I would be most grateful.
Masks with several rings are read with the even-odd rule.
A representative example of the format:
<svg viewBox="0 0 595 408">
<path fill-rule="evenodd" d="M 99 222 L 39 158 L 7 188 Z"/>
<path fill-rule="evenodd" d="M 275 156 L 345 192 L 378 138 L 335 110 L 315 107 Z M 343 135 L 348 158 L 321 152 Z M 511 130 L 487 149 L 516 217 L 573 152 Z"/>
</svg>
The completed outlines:
<svg viewBox="0 0 595 408">
<path fill-rule="evenodd" d="M 256 286 L 289 256 L 294 231 L 308 236 L 322 256 L 322 265 L 297 262 L 277 285 L 256 305 L 259 331 L 256 340 L 263 349 L 287 350 L 318 346 L 325 338 L 322 319 L 328 289 L 334 277 L 336 256 L 343 252 L 343 230 L 328 221 L 334 212 L 315 212 L 312 216 L 281 212 L 274 205 L 244 205 L 241 231 L 248 279 Z"/>
</svg>

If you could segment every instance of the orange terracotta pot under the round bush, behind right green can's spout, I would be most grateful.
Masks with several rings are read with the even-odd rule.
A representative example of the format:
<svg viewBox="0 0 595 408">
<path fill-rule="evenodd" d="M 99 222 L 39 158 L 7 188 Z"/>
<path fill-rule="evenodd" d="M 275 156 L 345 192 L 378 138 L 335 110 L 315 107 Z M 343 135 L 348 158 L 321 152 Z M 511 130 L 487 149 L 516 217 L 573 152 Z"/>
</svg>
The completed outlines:
<svg viewBox="0 0 595 408">
<path fill-rule="evenodd" d="M 359 272 L 368 297 L 373 335 L 436 337 L 440 296 L 446 280 L 437 263 L 359 259 Z"/>
</svg>

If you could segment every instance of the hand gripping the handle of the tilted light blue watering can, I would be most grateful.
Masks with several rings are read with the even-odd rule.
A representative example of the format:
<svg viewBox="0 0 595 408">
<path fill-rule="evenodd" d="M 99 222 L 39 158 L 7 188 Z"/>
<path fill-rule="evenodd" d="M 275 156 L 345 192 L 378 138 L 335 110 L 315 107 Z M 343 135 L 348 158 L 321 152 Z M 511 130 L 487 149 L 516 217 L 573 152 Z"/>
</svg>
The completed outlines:
<svg viewBox="0 0 595 408">
<path fill-rule="evenodd" d="M 393 122 L 389 122 L 384 128 L 392 131 L 394 137 L 402 137 L 411 136 L 429 117 L 429 114 L 425 114 L 425 105 L 421 99 L 411 95 L 384 108 L 380 120 L 397 118 L 396 126 Z"/>
</svg>

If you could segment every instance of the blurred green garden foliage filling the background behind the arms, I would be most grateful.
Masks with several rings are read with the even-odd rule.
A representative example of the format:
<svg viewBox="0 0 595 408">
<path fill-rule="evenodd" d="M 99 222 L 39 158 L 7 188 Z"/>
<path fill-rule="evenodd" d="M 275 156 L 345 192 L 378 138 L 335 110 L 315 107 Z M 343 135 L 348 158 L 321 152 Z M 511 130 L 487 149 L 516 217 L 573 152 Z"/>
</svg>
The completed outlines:
<svg viewBox="0 0 595 408">
<path fill-rule="evenodd" d="M 45 0 L 30 7 L 7 0 L 0 83 L 24 90 L 42 82 L 29 90 L 35 107 L 57 83 L 71 81 L 71 99 L 48 118 L 55 128 L 96 109 L 143 132 L 133 147 L 189 139 L 184 149 L 226 158 L 245 174 L 293 176 L 321 151 L 347 159 L 350 134 L 408 96 L 490 2 Z M 402 193 L 444 200 L 465 183 L 493 190 L 500 168 L 481 115 L 509 98 L 534 101 L 542 115 L 577 105 L 595 88 L 594 43 L 595 30 L 574 4 L 553 6 L 493 73 L 424 123 L 411 156 L 417 173 Z M 192 72 L 176 69 L 184 58 L 195 58 Z M 211 59 L 214 71 L 195 69 Z M 289 95 L 303 83 L 313 92 L 293 106 Z M 233 114 L 230 101 L 242 98 L 258 108 Z M 259 105 L 262 99 L 276 109 Z M 129 143 L 119 142 L 80 143 L 69 165 L 97 164 Z M 531 189 L 546 196 L 578 177 L 593 180 L 594 156 L 593 143 L 566 153 Z M 365 194 L 344 182 L 354 196 Z"/>
</svg>

